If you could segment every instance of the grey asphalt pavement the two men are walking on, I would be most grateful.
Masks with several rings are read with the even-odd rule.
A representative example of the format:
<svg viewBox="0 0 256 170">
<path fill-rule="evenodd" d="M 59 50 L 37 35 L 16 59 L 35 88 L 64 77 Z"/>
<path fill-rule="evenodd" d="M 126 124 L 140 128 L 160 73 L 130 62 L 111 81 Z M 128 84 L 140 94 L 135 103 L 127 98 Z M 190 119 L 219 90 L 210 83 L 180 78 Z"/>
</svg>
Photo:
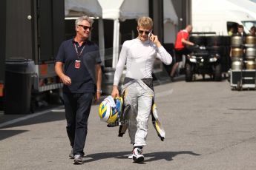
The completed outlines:
<svg viewBox="0 0 256 170">
<path fill-rule="evenodd" d="M 154 89 L 166 137 L 162 142 L 149 123 L 144 163 L 127 158 L 128 134 L 117 137 L 118 127 L 100 121 L 99 105 L 93 104 L 85 163 L 79 166 L 68 159 L 63 106 L 31 115 L 0 114 L 0 169 L 255 169 L 255 90 L 232 91 L 226 80 L 207 79 Z"/>
</svg>

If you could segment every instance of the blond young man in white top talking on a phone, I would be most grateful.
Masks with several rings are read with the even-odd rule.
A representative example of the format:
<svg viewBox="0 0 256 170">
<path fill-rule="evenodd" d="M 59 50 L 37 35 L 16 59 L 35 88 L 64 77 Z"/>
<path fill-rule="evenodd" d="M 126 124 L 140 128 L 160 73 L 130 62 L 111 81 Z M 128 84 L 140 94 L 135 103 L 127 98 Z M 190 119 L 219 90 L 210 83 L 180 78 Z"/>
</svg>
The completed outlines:
<svg viewBox="0 0 256 170">
<path fill-rule="evenodd" d="M 152 34 L 153 21 L 141 17 L 137 22 L 138 37 L 125 41 L 119 55 L 114 75 L 112 97 L 119 96 L 118 84 L 126 64 L 126 75 L 122 91 L 125 93 L 125 105 L 130 105 L 128 112 L 128 133 L 134 145 L 133 159 L 136 163 L 144 160 L 142 147 L 146 145 L 148 118 L 154 98 L 152 69 L 154 60 L 159 58 L 165 64 L 171 64 L 171 55 Z"/>
</svg>

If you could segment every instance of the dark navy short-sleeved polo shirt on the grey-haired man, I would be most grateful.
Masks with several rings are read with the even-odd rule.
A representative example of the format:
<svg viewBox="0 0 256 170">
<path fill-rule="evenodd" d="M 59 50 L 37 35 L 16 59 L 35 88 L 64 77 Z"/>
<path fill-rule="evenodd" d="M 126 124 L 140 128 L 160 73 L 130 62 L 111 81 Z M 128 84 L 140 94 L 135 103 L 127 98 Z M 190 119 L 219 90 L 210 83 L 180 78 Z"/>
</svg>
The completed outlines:
<svg viewBox="0 0 256 170">
<path fill-rule="evenodd" d="M 76 53 L 76 49 L 78 53 Z M 81 51 L 82 53 L 78 57 Z M 76 60 L 81 61 L 79 69 L 75 68 Z M 96 44 L 86 41 L 82 46 L 79 46 L 76 41 L 73 41 L 73 38 L 64 41 L 59 47 L 56 61 L 60 61 L 65 65 L 65 75 L 71 79 L 71 85 L 64 85 L 63 92 L 95 92 L 95 64 L 101 63 L 99 47 Z"/>
</svg>

